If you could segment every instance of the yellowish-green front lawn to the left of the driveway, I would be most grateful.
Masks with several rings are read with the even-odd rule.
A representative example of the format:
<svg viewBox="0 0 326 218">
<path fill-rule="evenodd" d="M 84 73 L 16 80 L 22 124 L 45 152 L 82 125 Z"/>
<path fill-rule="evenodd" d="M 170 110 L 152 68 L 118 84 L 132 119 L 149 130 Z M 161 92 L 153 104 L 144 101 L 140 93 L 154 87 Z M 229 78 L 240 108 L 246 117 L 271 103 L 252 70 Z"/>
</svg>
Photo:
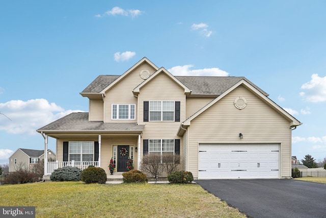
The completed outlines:
<svg viewBox="0 0 326 218">
<path fill-rule="evenodd" d="M 246 217 L 197 184 L 47 182 L 0 186 L 2 206 L 36 217 Z"/>
</svg>

